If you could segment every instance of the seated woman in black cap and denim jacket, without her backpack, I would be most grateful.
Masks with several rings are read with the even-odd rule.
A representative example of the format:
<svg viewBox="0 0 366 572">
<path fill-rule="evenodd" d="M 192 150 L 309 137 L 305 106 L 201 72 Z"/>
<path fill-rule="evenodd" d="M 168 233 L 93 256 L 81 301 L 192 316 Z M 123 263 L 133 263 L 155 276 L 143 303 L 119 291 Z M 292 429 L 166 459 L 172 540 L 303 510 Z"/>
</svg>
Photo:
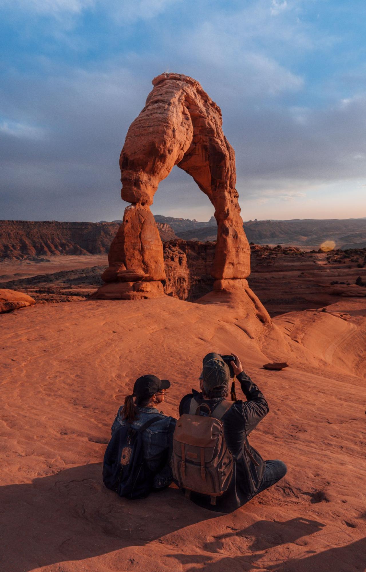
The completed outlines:
<svg viewBox="0 0 366 572">
<path fill-rule="evenodd" d="M 133 386 L 133 394 L 125 398 L 125 404 L 118 410 L 112 425 L 113 435 L 126 423 L 130 423 L 133 429 L 139 429 L 150 419 L 158 418 L 142 432 L 144 459 L 149 469 L 156 472 L 153 491 L 168 487 L 173 480 L 170 457 L 177 420 L 164 415 L 156 408 L 164 401 L 165 391 L 169 387 L 168 379 L 160 380 L 155 375 L 142 375 Z"/>
</svg>

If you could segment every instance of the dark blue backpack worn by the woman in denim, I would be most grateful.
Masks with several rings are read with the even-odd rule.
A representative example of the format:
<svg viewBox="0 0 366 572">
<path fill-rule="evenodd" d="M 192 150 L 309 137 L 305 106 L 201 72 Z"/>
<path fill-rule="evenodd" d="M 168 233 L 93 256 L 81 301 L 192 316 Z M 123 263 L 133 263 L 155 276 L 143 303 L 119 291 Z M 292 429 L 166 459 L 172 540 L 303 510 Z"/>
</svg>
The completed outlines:
<svg viewBox="0 0 366 572">
<path fill-rule="evenodd" d="M 157 471 L 149 469 L 144 459 L 142 433 L 160 419 L 161 417 L 153 417 L 140 429 L 133 429 L 130 423 L 126 423 L 114 432 L 103 461 L 103 482 L 107 488 L 128 499 L 148 496 L 152 490 L 154 476 L 162 467 Z"/>
</svg>

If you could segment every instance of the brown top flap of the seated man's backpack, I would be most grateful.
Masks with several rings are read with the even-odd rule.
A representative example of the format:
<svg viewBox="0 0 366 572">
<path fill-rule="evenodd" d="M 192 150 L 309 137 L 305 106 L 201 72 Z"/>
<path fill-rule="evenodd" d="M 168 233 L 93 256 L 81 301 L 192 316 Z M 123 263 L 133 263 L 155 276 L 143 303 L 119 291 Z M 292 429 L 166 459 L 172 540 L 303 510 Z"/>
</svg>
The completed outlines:
<svg viewBox="0 0 366 572">
<path fill-rule="evenodd" d="M 174 440 L 194 447 L 210 447 L 222 432 L 219 419 L 184 413 L 178 419 Z"/>
</svg>

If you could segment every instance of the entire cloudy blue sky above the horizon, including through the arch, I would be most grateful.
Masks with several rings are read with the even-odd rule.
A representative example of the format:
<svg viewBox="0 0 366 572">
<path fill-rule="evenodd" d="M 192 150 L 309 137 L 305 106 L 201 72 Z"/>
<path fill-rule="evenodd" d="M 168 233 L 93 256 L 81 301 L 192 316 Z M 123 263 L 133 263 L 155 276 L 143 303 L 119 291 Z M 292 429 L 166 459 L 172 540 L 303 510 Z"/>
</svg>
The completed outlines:
<svg viewBox="0 0 366 572">
<path fill-rule="evenodd" d="M 366 216 L 364 0 L 0 0 L 0 219 L 121 219 L 118 158 L 162 72 L 201 82 L 248 219 Z M 154 214 L 208 220 L 175 167 Z"/>
</svg>

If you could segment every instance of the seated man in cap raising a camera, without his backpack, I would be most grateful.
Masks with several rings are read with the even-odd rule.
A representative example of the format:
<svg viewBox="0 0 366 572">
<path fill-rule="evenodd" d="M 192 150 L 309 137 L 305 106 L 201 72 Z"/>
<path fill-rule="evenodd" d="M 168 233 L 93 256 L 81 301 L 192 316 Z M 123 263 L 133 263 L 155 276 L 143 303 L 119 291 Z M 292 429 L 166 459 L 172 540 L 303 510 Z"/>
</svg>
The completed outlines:
<svg viewBox="0 0 366 572">
<path fill-rule="evenodd" d="M 232 355 L 231 366 L 246 396 L 246 401 L 233 402 L 221 418 L 226 446 L 234 460 L 233 476 L 227 490 L 217 497 L 215 505 L 210 504 L 207 495 L 197 492 L 190 494 L 190 499 L 197 505 L 222 513 L 229 513 L 244 505 L 258 492 L 277 483 L 287 472 L 285 463 L 280 460 L 264 461 L 258 451 L 249 445 L 249 433 L 268 413 L 269 407 L 264 395 L 244 373 L 238 356 Z M 204 403 L 214 417 L 216 407 L 229 394 L 229 380 L 230 370 L 221 355 L 208 353 L 203 360 L 200 376 L 201 393 L 192 390 L 192 394 L 185 395 L 180 402 L 179 414 L 192 415 Z M 200 408 L 200 415 L 208 415 L 206 407 Z"/>
</svg>

